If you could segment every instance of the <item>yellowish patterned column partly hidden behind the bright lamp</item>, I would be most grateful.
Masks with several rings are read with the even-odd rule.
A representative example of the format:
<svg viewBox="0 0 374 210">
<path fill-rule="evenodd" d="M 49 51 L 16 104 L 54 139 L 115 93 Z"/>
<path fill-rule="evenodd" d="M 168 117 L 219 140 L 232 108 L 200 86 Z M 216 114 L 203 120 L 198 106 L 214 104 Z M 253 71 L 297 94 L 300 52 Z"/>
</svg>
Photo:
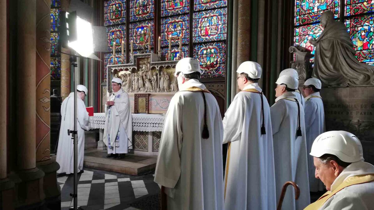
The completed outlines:
<svg viewBox="0 0 374 210">
<path fill-rule="evenodd" d="M 61 10 L 67 11 L 70 0 L 61 0 Z M 61 48 L 61 52 L 70 53 L 70 50 Z M 70 56 L 61 53 L 61 99 L 64 100 L 70 94 Z"/>
</svg>

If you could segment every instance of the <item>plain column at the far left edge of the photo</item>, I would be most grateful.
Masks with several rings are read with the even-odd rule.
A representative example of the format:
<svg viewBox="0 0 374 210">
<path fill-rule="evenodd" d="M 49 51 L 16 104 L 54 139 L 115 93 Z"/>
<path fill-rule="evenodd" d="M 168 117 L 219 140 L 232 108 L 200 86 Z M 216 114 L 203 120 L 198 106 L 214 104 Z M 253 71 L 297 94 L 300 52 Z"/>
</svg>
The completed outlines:
<svg viewBox="0 0 374 210">
<path fill-rule="evenodd" d="M 7 178 L 7 4 L 0 0 L 0 209 L 14 209 L 14 182 Z"/>
</svg>

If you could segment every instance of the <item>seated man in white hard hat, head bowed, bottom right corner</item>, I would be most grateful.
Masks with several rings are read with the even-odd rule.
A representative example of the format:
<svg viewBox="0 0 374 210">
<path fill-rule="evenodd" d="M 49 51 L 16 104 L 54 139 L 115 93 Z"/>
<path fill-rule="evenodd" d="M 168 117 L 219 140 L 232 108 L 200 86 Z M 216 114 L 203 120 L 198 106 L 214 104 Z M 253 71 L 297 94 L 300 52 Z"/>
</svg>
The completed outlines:
<svg viewBox="0 0 374 210">
<path fill-rule="evenodd" d="M 319 135 L 310 155 L 328 190 L 305 210 L 374 209 L 374 166 L 364 162 L 360 140 L 346 131 Z"/>
</svg>

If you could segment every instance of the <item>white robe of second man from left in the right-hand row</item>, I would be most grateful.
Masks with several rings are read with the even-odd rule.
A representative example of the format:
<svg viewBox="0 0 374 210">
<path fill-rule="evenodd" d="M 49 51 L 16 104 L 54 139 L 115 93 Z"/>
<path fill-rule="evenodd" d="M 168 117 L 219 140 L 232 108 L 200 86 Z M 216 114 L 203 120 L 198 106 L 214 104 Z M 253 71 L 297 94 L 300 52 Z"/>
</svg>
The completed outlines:
<svg viewBox="0 0 374 210">
<path fill-rule="evenodd" d="M 225 209 L 276 209 L 272 122 L 269 103 L 257 83 L 247 85 L 223 119 L 229 142 L 225 170 Z M 264 127 L 261 98 L 264 104 Z"/>
</svg>

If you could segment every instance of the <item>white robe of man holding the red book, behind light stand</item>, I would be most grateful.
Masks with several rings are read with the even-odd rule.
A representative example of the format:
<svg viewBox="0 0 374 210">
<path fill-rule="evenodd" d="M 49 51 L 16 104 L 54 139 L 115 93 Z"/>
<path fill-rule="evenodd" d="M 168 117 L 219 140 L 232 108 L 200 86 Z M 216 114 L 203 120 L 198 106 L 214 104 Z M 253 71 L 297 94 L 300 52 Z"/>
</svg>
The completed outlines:
<svg viewBox="0 0 374 210">
<path fill-rule="evenodd" d="M 77 98 L 78 172 L 83 169 L 85 130 L 89 130 L 88 119 L 85 102 Z M 61 104 L 61 127 L 56 155 L 60 169 L 57 173 L 74 173 L 74 145 L 71 139 L 73 136 L 68 136 L 68 129 L 74 130 L 74 93 L 70 93 Z"/>
</svg>

